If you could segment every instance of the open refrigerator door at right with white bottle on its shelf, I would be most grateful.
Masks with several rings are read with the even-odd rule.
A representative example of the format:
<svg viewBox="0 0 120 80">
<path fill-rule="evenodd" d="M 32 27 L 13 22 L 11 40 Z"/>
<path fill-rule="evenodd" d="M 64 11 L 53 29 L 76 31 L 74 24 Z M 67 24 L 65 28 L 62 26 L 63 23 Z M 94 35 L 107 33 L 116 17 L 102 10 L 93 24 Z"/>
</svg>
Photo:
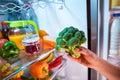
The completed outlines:
<svg viewBox="0 0 120 80">
<path fill-rule="evenodd" d="M 97 0 L 98 50 L 97 55 L 115 66 L 119 66 L 119 0 Z M 118 22 L 118 23 L 117 23 Z M 98 80 L 107 80 L 97 73 Z"/>
</svg>

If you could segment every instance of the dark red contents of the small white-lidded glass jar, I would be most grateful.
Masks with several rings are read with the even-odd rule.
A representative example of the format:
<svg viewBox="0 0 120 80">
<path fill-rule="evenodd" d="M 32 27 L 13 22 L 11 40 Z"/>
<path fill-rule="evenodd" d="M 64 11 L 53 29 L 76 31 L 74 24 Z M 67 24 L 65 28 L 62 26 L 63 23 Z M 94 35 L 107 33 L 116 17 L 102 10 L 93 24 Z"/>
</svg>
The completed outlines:
<svg viewBox="0 0 120 80">
<path fill-rule="evenodd" d="M 40 51 L 40 44 L 39 43 L 38 44 L 32 43 L 32 45 L 25 46 L 25 51 L 27 54 L 30 54 L 30 55 L 35 54 L 35 53 Z"/>
</svg>

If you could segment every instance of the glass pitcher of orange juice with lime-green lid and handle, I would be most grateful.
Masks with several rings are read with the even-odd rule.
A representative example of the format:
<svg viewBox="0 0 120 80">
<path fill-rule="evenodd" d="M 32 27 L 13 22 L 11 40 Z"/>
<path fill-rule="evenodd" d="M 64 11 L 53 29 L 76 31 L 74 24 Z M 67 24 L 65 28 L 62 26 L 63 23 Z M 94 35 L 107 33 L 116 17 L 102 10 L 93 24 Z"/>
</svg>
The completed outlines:
<svg viewBox="0 0 120 80">
<path fill-rule="evenodd" d="M 38 26 L 32 20 L 3 21 L 2 35 L 14 41 L 19 49 L 24 49 L 22 39 L 25 36 L 38 34 Z"/>
</svg>

